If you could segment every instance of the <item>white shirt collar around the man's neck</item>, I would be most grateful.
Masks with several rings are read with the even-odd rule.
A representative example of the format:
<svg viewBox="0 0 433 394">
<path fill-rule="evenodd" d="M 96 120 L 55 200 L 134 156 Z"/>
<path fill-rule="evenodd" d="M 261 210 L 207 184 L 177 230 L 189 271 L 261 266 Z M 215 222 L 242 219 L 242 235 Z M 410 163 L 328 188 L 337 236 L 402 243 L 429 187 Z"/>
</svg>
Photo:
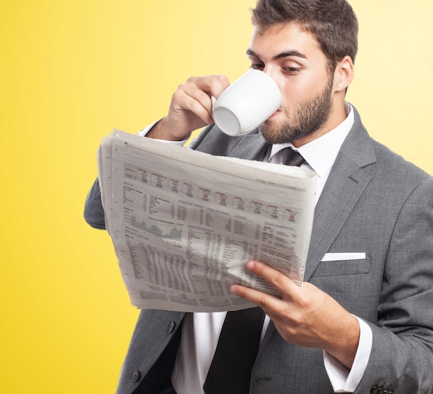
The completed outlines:
<svg viewBox="0 0 433 394">
<path fill-rule="evenodd" d="M 273 144 L 270 151 L 270 158 L 282 149 L 291 147 L 295 151 L 301 153 L 302 157 L 306 160 L 313 171 L 315 171 L 319 177 L 322 177 L 333 166 L 342 143 L 355 122 L 353 108 L 350 104 L 346 104 L 346 112 L 348 113 L 346 119 L 335 127 L 335 129 L 311 142 L 308 142 L 308 144 L 302 145 L 300 148 L 295 148 L 290 143 Z M 324 154 L 324 152 L 326 152 L 326 154 Z"/>
</svg>

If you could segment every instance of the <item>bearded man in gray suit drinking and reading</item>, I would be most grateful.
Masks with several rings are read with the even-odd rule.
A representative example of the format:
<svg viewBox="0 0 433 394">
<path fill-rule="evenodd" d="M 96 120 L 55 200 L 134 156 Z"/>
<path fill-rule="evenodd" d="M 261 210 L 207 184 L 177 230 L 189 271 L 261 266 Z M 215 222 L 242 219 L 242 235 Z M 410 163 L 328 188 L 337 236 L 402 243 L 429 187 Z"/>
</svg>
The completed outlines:
<svg viewBox="0 0 433 394">
<path fill-rule="evenodd" d="M 317 173 L 304 286 L 259 261 L 247 269 L 281 299 L 232 285 L 266 312 L 246 391 L 433 393 L 433 180 L 372 140 L 344 101 L 357 52 L 353 10 L 344 0 L 259 0 L 252 22 L 251 67 L 282 91 L 269 120 L 241 137 L 221 133 L 210 96 L 229 82 L 213 75 L 179 86 L 167 116 L 142 131 L 183 141 L 209 124 L 192 149 L 281 162 L 291 147 Z M 85 217 L 104 228 L 98 182 Z M 204 393 L 223 319 L 142 310 L 118 393 Z M 215 345 L 203 350 L 203 338 Z"/>
</svg>

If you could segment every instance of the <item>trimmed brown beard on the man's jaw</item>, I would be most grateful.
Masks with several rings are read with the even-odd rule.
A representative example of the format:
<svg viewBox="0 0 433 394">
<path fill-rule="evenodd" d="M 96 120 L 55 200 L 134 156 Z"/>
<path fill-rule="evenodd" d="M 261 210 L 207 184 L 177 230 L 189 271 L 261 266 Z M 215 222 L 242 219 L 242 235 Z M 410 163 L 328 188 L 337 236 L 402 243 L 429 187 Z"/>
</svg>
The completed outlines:
<svg viewBox="0 0 433 394">
<path fill-rule="evenodd" d="M 259 129 L 264 139 L 270 144 L 286 144 L 319 130 L 329 119 L 332 85 L 333 78 L 329 77 L 323 91 L 298 103 L 293 108 L 293 115 L 290 115 L 287 107 L 283 107 L 285 120 L 282 126 L 273 126 L 272 120 L 262 123 Z"/>
</svg>

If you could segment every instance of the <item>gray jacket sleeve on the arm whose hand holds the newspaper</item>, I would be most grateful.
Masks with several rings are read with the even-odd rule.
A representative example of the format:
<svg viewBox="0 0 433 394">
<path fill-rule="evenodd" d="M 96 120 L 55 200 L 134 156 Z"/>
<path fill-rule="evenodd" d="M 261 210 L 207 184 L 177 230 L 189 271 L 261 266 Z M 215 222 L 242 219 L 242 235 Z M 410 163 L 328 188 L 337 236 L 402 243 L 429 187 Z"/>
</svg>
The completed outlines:
<svg viewBox="0 0 433 394">
<path fill-rule="evenodd" d="M 433 182 L 400 209 L 387 254 L 373 345 L 356 393 L 433 393 Z M 380 391 L 377 391 L 378 393 Z"/>
</svg>

